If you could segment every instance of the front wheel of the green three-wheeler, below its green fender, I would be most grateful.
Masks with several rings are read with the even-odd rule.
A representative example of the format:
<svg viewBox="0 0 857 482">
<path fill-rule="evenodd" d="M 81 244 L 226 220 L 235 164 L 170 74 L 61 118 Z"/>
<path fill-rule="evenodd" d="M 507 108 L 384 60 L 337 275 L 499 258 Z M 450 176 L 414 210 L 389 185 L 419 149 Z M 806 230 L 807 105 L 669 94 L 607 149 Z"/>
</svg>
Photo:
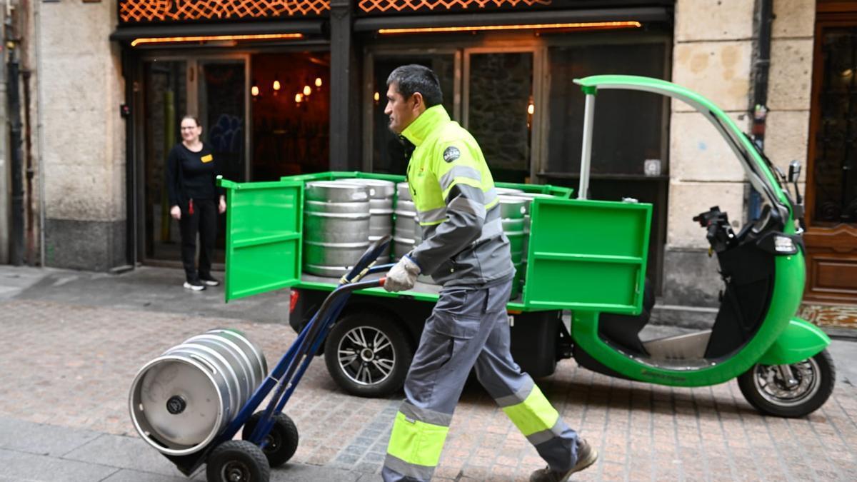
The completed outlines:
<svg viewBox="0 0 857 482">
<path fill-rule="evenodd" d="M 776 366 L 753 365 L 738 377 L 741 394 L 759 412 L 777 417 L 803 417 L 824 405 L 833 393 L 836 367 L 827 350 L 788 365 L 798 383 L 793 388 L 786 386 Z"/>
</svg>

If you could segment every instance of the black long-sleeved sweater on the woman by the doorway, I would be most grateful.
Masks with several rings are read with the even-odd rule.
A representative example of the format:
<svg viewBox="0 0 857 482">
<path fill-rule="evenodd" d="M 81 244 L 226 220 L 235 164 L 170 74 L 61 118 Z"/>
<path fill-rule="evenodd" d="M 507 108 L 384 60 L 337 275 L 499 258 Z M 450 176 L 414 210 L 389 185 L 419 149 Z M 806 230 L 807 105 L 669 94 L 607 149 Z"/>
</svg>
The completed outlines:
<svg viewBox="0 0 857 482">
<path fill-rule="evenodd" d="M 212 149 L 203 142 L 195 153 L 177 143 L 166 158 L 166 189 L 170 206 L 183 205 L 190 199 L 216 199 L 222 190 L 214 184 L 218 168 Z"/>
</svg>

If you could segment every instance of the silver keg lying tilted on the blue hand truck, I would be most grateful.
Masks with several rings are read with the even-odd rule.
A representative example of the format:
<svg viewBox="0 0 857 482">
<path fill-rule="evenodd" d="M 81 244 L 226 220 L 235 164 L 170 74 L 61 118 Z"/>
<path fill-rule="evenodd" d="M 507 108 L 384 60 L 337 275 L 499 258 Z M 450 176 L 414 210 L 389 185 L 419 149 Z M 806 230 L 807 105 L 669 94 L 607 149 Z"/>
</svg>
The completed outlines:
<svg viewBox="0 0 857 482">
<path fill-rule="evenodd" d="M 258 346 L 239 331 L 213 329 L 137 372 L 129 395 L 131 420 L 161 453 L 193 454 L 235 419 L 266 376 Z"/>
</svg>

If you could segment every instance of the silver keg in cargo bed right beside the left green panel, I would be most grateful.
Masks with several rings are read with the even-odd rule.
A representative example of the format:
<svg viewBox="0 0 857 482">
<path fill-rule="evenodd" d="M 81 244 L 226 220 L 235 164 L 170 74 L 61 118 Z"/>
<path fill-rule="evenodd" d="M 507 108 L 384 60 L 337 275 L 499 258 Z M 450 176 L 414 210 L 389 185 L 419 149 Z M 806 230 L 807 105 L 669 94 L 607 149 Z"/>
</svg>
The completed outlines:
<svg viewBox="0 0 857 482">
<path fill-rule="evenodd" d="M 368 189 L 315 181 L 303 192 L 303 271 L 339 277 L 369 248 Z"/>
</svg>

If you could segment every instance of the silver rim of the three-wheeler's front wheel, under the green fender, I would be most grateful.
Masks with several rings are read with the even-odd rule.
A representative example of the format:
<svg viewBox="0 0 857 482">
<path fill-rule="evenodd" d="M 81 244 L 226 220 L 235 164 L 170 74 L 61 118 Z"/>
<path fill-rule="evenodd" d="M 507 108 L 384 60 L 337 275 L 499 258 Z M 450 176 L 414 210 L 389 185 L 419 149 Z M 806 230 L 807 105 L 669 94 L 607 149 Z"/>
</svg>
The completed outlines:
<svg viewBox="0 0 857 482">
<path fill-rule="evenodd" d="M 821 387 L 820 370 L 815 358 L 789 365 L 797 385 L 788 387 L 776 365 L 756 365 L 753 385 L 764 400 L 779 407 L 795 407 L 812 398 Z"/>
</svg>

